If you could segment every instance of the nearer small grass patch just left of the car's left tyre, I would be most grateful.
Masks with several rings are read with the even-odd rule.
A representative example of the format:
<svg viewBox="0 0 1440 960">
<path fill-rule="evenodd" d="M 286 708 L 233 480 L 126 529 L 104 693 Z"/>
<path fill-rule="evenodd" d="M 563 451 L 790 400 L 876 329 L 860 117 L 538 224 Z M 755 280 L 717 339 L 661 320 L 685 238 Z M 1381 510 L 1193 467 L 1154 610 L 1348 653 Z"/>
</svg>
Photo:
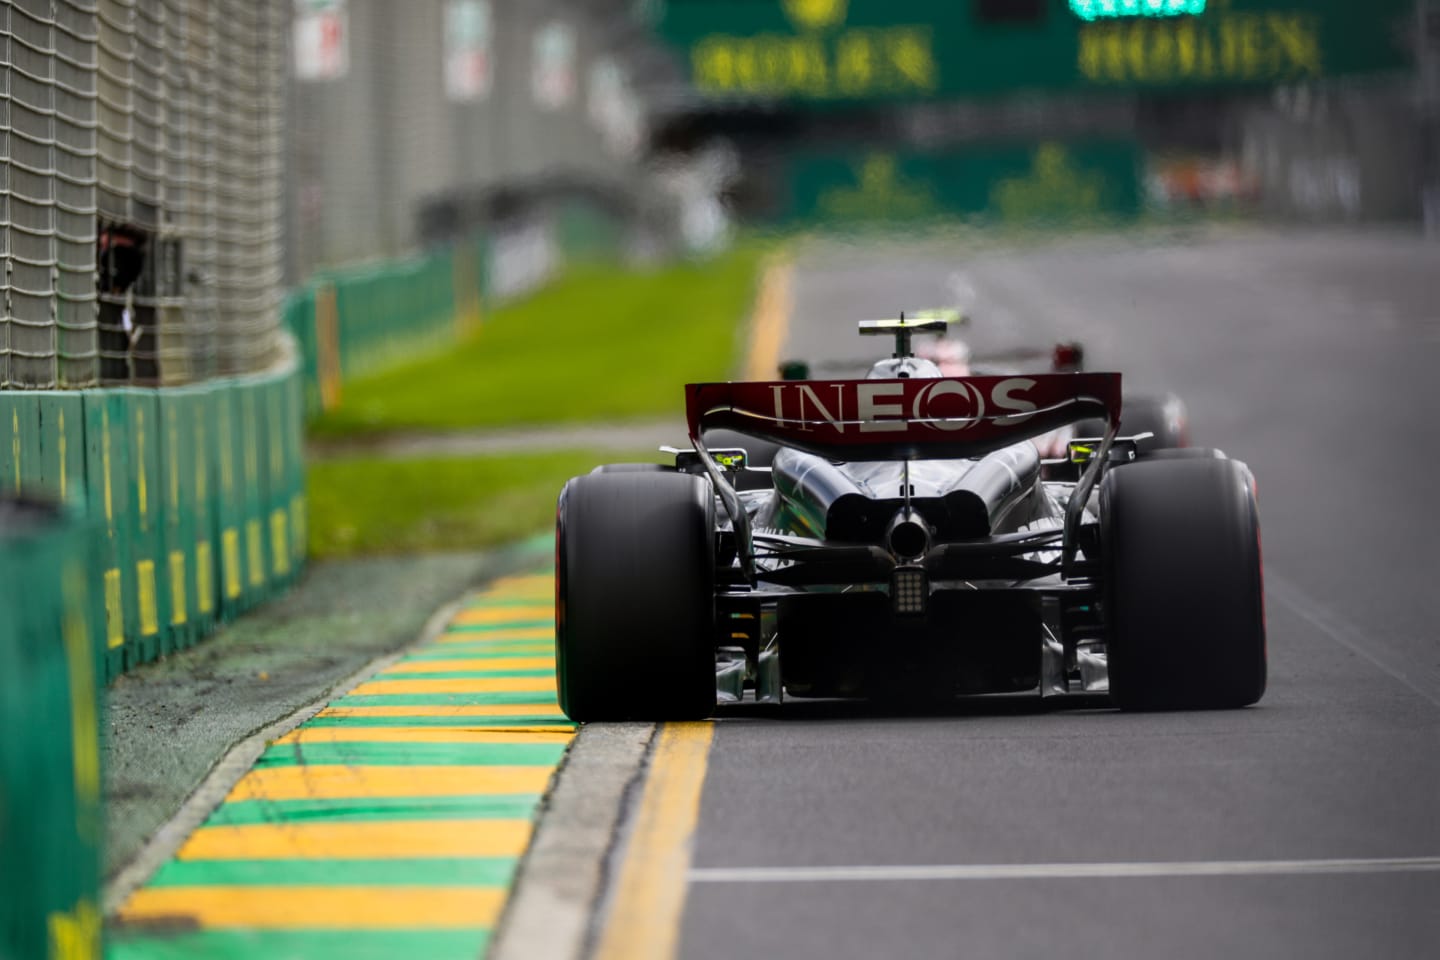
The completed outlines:
<svg viewBox="0 0 1440 960">
<path fill-rule="evenodd" d="M 310 553 L 318 560 L 481 550 L 554 524 L 572 476 L 654 453 L 560 450 L 477 458 L 346 458 L 310 466 Z"/>
</svg>

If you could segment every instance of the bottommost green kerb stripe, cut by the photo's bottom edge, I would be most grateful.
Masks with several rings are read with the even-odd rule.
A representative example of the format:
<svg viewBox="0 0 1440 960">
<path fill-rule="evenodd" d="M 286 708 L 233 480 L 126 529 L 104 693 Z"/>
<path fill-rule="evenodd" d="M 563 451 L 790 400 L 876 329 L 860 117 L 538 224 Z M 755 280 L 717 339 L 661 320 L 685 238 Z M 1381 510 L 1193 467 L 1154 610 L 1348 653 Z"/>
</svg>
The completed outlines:
<svg viewBox="0 0 1440 960">
<path fill-rule="evenodd" d="M 135 934 L 144 937 L 132 938 Z M 488 930 L 107 930 L 107 960 L 475 960 Z"/>
</svg>

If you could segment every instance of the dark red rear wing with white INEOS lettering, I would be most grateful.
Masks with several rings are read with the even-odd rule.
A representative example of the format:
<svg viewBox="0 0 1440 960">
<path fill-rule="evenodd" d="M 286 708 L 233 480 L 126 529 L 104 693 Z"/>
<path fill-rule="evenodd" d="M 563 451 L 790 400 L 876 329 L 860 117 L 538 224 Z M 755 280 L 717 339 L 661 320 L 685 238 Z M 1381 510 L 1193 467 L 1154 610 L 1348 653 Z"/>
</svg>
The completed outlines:
<svg viewBox="0 0 1440 960">
<path fill-rule="evenodd" d="M 724 427 L 837 461 L 982 456 L 1086 417 L 1120 419 L 1120 374 L 691 383 L 690 436 Z"/>
</svg>

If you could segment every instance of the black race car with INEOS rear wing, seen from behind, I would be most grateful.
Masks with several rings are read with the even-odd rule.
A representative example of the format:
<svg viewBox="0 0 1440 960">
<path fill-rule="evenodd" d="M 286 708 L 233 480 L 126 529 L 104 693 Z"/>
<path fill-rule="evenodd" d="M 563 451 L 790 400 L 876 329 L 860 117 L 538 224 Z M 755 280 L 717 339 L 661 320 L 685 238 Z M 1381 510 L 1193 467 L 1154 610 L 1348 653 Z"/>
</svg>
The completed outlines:
<svg viewBox="0 0 1440 960">
<path fill-rule="evenodd" d="M 863 322 L 896 338 L 864 380 L 690 384 L 691 448 L 672 465 L 566 484 L 569 717 L 685 720 L 785 697 L 1260 699 L 1248 468 L 1120 436 L 1119 374 L 945 377 L 910 350 L 936 322 Z M 1090 419 L 1099 435 L 1043 462 L 1031 438 Z M 717 429 L 775 443 L 770 468 L 707 443 Z M 757 472 L 765 484 L 740 482 Z"/>
</svg>

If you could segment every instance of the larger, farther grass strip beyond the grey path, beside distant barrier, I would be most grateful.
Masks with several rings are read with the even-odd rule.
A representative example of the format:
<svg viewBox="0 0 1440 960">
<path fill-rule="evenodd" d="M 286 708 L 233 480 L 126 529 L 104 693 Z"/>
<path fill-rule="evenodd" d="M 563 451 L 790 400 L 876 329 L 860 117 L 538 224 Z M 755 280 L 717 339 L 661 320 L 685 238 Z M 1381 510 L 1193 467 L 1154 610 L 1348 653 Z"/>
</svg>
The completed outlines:
<svg viewBox="0 0 1440 960">
<path fill-rule="evenodd" d="M 639 273 L 579 268 L 465 343 L 346 384 L 321 439 L 664 416 L 734 373 L 762 246 Z"/>
</svg>

